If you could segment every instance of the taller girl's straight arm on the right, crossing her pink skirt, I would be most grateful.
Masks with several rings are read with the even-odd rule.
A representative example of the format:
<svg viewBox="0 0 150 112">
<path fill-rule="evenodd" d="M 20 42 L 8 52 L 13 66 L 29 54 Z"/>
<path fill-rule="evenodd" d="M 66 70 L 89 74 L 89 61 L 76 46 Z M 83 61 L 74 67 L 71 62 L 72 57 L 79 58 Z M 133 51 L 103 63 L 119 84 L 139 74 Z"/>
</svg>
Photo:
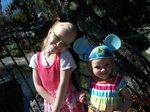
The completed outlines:
<svg viewBox="0 0 150 112">
<path fill-rule="evenodd" d="M 71 69 L 63 70 L 60 72 L 60 83 L 58 86 L 58 91 L 56 93 L 56 99 L 54 103 L 53 112 L 60 112 L 61 106 L 64 102 L 64 98 L 67 94 L 68 83 L 69 83 L 71 74 L 72 74 Z"/>
</svg>

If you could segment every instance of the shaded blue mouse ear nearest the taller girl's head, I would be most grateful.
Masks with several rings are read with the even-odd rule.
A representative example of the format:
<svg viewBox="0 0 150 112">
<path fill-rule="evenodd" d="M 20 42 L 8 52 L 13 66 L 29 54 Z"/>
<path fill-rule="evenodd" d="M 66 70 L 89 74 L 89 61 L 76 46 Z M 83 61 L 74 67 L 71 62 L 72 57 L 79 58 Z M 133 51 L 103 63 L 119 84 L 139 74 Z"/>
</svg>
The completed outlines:
<svg viewBox="0 0 150 112">
<path fill-rule="evenodd" d="M 73 50 L 77 54 L 84 54 L 89 47 L 89 42 L 85 38 L 78 38 L 73 44 Z"/>
</svg>

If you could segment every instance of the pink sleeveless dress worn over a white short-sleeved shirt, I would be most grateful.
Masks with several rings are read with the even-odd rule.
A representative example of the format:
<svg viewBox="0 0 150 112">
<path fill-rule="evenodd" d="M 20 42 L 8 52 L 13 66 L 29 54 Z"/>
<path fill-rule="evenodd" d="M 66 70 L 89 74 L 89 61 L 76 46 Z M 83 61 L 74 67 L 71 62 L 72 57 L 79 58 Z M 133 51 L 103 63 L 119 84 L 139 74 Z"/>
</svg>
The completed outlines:
<svg viewBox="0 0 150 112">
<path fill-rule="evenodd" d="M 60 82 L 60 53 L 56 55 L 54 63 L 45 68 L 41 62 L 40 52 L 37 54 L 37 70 L 43 87 L 53 96 L 56 97 L 56 92 Z M 61 112 L 84 112 L 83 106 L 77 101 L 76 96 L 78 91 L 69 82 L 68 92 L 65 97 Z M 52 105 L 44 100 L 44 112 L 51 112 Z"/>
</svg>

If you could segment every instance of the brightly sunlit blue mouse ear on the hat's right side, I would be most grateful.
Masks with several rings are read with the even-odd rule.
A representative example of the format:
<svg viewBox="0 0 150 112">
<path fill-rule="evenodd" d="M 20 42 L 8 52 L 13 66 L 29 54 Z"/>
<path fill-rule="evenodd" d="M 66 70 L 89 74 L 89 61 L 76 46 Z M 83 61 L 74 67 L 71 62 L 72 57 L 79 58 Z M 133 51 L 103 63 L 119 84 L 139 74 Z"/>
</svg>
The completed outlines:
<svg viewBox="0 0 150 112">
<path fill-rule="evenodd" d="M 107 35 L 103 42 L 111 51 L 116 51 L 121 47 L 120 38 L 114 34 Z"/>
</svg>

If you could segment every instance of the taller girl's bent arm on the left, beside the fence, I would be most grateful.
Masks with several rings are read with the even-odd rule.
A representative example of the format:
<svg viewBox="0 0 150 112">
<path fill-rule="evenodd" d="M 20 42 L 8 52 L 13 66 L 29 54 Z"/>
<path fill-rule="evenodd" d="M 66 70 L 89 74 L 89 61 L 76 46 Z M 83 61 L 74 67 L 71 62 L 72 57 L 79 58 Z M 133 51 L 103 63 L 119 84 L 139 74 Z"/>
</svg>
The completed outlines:
<svg viewBox="0 0 150 112">
<path fill-rule="evenodd" d="M 54 98 L 43 88 L 36 69 L 32 70 L 32 75 L 36 91 L 50 104 L 54 105 Z"/>
</svg>

